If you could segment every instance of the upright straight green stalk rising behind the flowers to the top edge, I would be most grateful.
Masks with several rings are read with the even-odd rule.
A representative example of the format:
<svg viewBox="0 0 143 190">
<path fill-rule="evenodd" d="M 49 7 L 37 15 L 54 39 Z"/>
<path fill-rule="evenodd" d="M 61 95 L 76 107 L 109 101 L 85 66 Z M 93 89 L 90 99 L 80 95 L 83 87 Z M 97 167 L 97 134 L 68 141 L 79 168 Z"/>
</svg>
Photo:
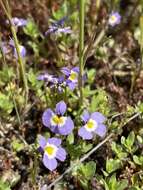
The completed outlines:
<svg viewBox="0 0 143 190">
<path fill-rule="evenodd" d="M 83 70 L 84 70 L 84 16 L 85 16 L 85 0 L 80 0 L 80 10 L 79 10 L 79 91 L 80 91 L 80 105 L 83 103 Z"/>
</svg>

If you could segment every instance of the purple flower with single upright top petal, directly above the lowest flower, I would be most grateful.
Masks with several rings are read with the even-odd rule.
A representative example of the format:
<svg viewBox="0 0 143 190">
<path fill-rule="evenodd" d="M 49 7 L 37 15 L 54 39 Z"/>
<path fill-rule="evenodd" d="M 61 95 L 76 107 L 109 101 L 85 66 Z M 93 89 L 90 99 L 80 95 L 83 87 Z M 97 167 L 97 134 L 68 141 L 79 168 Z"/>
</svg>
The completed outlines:
<svg viewBox="0 0 143 190">
<path fill-rule="evenodd" d="M 55 112 L 51 109 L 46 109 L 42 116 L 43 124 L 52 132 L 68 135 L 74 128 L 73 121 L 70 117 L 63 116 L 66 112 L 67 106 L 64 101 L 56 104 Z"/>
</svg>

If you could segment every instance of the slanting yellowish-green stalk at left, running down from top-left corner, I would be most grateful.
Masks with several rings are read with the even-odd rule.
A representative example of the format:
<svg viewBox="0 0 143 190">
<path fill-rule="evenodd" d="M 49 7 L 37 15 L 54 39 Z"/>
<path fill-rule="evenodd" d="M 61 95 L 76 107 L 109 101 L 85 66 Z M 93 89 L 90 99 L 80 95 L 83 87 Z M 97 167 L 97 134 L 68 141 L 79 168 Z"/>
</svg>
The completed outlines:
<svg viewBox="0 0 143 190">
<path fill-rule="evenodd" d="M 11 25 L 11 32 L 12 32 L 12 35 L 13 35 L 13 40 L 14 40 L 14 44 L 15 44 L 15 48 L 16 48 L 16 51 L 17 51 L 17 56 L 18 56 L 18 63 L 19 63 L 19 70 L 20 70 L 20 75 L 21 75 L 21 79 L 23 81 L 23 84 L 24 84 L 24 89 L 25 89 L 25 102 L 27 104 L 27 100 L 28 100 L 28 83 L 27 83 L 27 78 L 26 78 L 26 72 L 25 72 L 25 67 L 24 67 L 24 63 L 22 61 L 22 57 L 20 55 L 20 49 L 19 49 L 19 42 L 18 42 L 18 39 L 17 39 L 17 35 L 16 35 L 16 29 L 11 21 L 11 11 L 10 11 L 10 7 L 9 7 L 9 3 L 8 1 L 6 0 L 6 5 L 4 5 L 3 1 L 0 0 L 0 4 L 10 22 L 10 25 Z"/>
</svg>

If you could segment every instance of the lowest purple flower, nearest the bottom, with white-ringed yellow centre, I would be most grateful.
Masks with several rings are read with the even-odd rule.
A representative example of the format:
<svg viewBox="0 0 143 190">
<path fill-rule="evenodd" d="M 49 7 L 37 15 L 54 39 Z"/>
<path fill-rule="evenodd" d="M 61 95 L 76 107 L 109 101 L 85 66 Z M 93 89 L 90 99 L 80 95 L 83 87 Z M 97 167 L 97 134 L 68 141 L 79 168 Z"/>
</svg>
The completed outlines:
<svg viewBox="0 0 143 190">
<path fill-rule="evenodd" d="M 61 139 L 49 138 L 45 139 L 43 136 L 39 138 L 39 145 L 44 151 L 43 164 L 50 171 L 57 168 L 57 159 L 64 162 L 66 159 L 66 151 L 62 148 Z"/>
</svg>

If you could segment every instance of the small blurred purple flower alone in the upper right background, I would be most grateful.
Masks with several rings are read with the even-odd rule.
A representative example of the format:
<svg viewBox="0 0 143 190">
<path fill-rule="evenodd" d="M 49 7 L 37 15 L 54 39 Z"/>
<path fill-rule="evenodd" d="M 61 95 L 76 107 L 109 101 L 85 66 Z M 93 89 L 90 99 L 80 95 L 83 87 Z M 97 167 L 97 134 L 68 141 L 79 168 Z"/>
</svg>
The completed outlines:
<svg viewBox="0 0 143 190">
<path fill-rule="evenodd" d="M 109 15 L 108 23 L 110 26 L 116 26 L 121 22 L 121 15 L 118 12 L 112 12 Z"/>
</svg>

